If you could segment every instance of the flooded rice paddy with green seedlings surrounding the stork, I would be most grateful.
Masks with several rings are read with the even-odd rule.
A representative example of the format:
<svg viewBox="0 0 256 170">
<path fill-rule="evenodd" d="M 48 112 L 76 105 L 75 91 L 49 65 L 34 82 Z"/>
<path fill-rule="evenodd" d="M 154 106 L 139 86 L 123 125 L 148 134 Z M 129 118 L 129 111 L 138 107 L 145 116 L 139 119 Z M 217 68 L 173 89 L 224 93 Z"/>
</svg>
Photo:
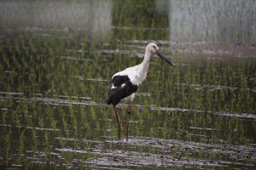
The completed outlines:
<svg viewBox="0 0 256 170">
<path fill-rule="evenodd" d="M 231 2 L 223 5 L 238 5 L 234 17 L 243 19 L 241 4 Z M 243 8 L 250 12 L 253 4 Z M 1 169 L 255 168 L 255 29 L 244 34 L 241 26 L 229 38 L 234 26 L 224 23 L 228 33 L 199 29 L 198 41 L 172 26 L 173 17 L 198 17 L 171 14 L 170 8 L 183 5 L 1 2 Z M 218 4 L 204 5 L 216 14 Z M 195 28 L 204 22 L 196 20 Z M 132 105 L 126 144 L 125 101 L 119 105 L 120 140 L 105 104 L 109 78 L 142 62 L 151 40 L 177 66 L 152 57 Z"/>
</svg>

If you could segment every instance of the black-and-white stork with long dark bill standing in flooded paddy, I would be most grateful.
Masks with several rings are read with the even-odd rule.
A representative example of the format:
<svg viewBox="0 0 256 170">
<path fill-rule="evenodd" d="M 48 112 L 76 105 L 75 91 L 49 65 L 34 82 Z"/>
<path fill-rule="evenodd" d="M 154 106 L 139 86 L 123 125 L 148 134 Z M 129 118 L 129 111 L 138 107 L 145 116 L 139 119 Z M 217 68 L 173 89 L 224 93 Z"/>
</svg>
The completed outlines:
<svg viewBox="0 0 256 170">
<path fill-rule="evenodd" d="M 148 43 L 145 50 L 143 62 L 115 73 L 111 79 L 108 94 L 108 105 L 113 105 L 113 111 L 118 123 L 118 133 L 120 139 L 120 124 L 116 105 L 121 99 L 128 99 L 127 116 L 126 116 L 126 142 L 128 142 L 129 122 L 131 115 L 131 102 L 135 97 L 138 86 L 146 79 L 148 73 L 149 59 L 151 54 L 157 54 L 161 59 L 166 61 L 169 65 L 172 62 L 160 53 L 158 46 L 154 42 Z"/>
</svg>

